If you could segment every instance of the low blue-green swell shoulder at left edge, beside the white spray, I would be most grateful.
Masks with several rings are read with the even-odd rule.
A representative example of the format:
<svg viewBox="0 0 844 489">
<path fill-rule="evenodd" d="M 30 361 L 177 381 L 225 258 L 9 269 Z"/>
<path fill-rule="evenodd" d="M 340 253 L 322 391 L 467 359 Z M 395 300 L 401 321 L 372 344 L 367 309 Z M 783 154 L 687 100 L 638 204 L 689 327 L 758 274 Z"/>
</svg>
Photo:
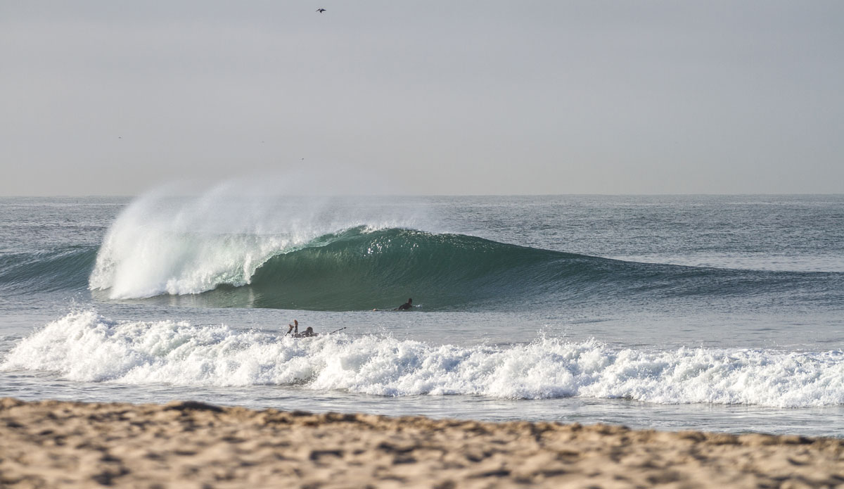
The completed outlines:
<svg viewBox="0 0 844 489">
<path fill-rule="evenodd" d="M 0 254 L 0 290 L 7 295 L 84 291 L 96 253 L 96 247 L 60 247 Z"/>
</svg>

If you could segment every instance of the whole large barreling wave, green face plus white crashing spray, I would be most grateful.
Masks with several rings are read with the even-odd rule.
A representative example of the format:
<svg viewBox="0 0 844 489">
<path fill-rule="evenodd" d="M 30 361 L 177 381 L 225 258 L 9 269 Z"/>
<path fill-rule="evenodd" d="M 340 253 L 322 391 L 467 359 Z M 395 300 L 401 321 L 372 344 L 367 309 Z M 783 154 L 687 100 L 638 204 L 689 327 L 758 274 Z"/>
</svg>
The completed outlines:
<svg viewBox="0 0 844 489">
<path fill-rule="evenodd" d="M 844 273 L 562 253 L 416 231 L 406 209 L 383 203 L 278 199 L 239 185 L 199 198 L 166 192 L 135 200 L 111 225 L 89 276 L 96 298 L 327 311 L 396 307 L 408 297 L 425 311 L 725 297 L 731 308 L 754 301 L 844 306 Z"/>
</svg>

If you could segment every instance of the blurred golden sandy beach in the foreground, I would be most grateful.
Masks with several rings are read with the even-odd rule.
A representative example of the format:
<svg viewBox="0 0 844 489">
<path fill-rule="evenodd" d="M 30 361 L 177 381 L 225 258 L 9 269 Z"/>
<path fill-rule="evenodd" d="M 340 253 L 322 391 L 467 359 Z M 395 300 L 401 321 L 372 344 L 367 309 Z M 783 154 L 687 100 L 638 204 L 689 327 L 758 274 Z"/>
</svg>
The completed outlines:
<svg viewBox="0 0 844 489">
<path fill-rule="evenodd" d="M 844 487 L 844 440 L 0 399 L 2 487 Z"/>
</svg>

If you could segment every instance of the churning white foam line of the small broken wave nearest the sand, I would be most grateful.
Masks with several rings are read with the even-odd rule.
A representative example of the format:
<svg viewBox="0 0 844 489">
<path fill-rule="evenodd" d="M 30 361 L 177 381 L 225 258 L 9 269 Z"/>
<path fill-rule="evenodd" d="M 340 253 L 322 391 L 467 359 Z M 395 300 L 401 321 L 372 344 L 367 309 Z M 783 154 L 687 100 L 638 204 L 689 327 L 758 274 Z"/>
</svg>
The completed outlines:
<svg viewBox="0 0 844 489">
<path fill-rule="evenodd" d="M 844 405 L 841 350 L 636 350 L 553 339 L 459 347 L 344 334 L 293 340 L 224 325 L 115 321 L 91 311 L 24 338 L 0 369 L 54 371 L 79 382 L 298 385 L 381 396 Z"/>
</svg>

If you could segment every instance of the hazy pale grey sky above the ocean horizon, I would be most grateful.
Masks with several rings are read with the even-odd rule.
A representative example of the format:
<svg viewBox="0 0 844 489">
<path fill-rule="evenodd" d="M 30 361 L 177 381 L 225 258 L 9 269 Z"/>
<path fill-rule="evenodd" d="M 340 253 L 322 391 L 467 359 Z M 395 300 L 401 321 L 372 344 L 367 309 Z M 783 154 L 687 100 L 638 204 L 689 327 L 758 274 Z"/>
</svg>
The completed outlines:
<svg viewBox="0 0 844 489">
<path fill-rule="evenodd" d="M 0 114 L 3 195 L 844 193 L 844 2 L 0 0 Z"/>
</svg>

